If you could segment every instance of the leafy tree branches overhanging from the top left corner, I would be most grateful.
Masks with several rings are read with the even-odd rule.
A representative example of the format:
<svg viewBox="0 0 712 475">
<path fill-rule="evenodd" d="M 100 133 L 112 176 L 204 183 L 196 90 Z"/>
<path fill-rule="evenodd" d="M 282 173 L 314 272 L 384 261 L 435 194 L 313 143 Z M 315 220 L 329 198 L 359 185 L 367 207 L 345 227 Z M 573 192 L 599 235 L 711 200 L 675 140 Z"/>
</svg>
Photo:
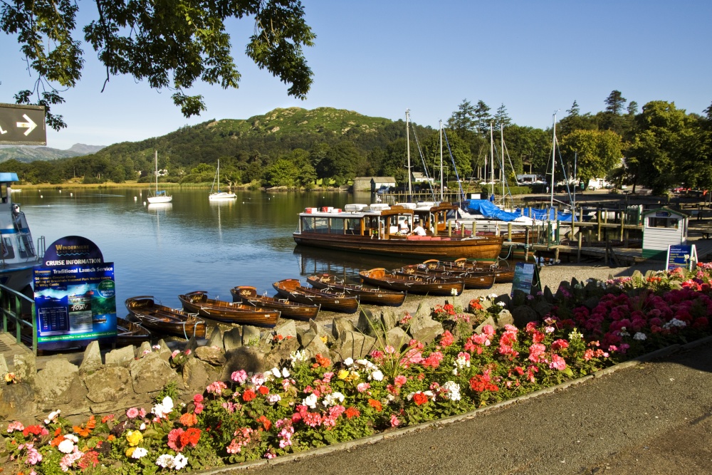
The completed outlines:
<svg viewBox="0 0 712 475">
<path fill-rule="evenodd" d="M 316 38 L 304 21 L 300 0 L 95 0 L 95 19 L 83 26 L 83 39 L 111 75 L 147 80 L 157 90 L 172 90 L 185 117 L 205 110 L 201 95 L 188 95 L 196 81 L 237 88 L 240 73 L 231 53 L 226 24 L 252 17 L 254 32 L 246 54 L 289 86 L 288 93 L 305 98 L 312 71 L 303 46 Z M 0 30 L 17 36 L 29 68 L 37 74 L 33 88 L 16 94 L 17 103 L 46 106 L 47 123 L 66 127 L 51 106 L 64 99 L 60 89 L 81 78 L 84 51 L 73 35 L 79 31 L 77 2 L 8 0 L 0 4 Z M 90 17 L 90 10 L 82 11 Z"/>
</svg>

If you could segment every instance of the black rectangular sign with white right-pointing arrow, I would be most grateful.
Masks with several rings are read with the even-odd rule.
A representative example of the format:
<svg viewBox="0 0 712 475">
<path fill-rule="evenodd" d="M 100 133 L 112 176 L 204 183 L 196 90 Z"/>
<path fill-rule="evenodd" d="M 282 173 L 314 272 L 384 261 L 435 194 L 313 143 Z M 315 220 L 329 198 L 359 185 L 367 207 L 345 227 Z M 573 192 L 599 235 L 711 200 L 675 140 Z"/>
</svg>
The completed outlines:
<svg viewBox="0 0 712 475">
<path fill-rule="evenodd" d="M 0 104 L 0 145 L 47 145 L 44 107 Z"/>
</svg>

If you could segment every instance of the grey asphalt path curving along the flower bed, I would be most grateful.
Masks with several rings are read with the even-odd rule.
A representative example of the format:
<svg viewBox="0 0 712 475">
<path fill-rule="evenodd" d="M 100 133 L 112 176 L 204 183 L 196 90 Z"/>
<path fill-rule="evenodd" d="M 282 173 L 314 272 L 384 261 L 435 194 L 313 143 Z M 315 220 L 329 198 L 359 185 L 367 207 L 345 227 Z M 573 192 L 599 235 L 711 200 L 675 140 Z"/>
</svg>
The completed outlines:
<svg viewBox="0 0 712 475">
<path fill-rule="evenodd" d="M 712 340 L 456 422 L 212 473 L 712 474 Z"/>
</svg>

